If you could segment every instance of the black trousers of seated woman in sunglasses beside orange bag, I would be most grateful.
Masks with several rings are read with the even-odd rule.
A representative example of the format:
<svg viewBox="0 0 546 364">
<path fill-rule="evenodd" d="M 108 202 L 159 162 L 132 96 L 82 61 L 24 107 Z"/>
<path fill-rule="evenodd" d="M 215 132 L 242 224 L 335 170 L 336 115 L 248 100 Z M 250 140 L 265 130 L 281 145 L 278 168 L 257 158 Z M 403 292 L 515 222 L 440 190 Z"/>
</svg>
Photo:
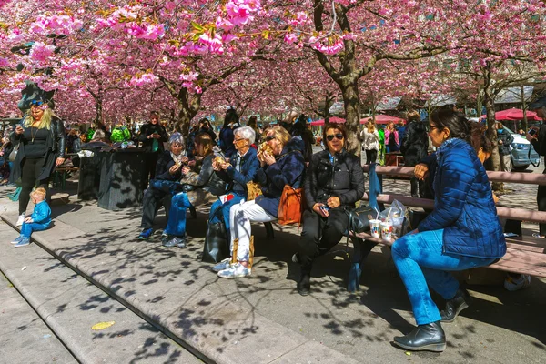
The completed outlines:
<svg viewBox="0 0 546 364">
<path fill-rule="evenodd" d="M 326 253 L 343 238 L 349 227 L 349 217 L 343 207 L 329 210 L 329 217 L 319 217 L 314 211 L 303 213 L 303 231 L 299 238 L 298 259 L 302 273 L 309 274 L 313 261 Z"/>
</svg>

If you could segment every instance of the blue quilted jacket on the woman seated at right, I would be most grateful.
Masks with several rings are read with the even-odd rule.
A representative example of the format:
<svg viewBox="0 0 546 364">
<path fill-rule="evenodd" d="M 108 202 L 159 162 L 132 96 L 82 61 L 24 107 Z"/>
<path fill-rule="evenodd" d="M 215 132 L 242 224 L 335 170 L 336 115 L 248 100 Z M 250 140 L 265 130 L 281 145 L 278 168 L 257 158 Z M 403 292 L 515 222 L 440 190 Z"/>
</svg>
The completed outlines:
<svg viewBox="0 0 546 364">
<path fill-rule="evenodd" d="M 506 241 L 493 202 L 489 178 L 474 148 L 451 138 L 436 151 L 434 210 L 419 231 L 444 229 L 444 253 L 501 258 Z"/>
</svg>

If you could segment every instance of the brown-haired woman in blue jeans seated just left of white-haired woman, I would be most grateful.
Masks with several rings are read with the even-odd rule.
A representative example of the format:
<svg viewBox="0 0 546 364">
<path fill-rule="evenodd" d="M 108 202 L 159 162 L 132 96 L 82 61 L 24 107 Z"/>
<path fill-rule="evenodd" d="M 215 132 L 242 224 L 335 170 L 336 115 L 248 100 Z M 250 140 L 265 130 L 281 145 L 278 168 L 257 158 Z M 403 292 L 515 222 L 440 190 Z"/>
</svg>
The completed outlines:
<svg viewBox="0 0 546 364">
<path fill-rule="evenodd" d="M 182 167 L 182 190 L 171 199 L 164 247 L 186 248 L 186 210 L 188 207 L 213 202 L 226 192 L 226 184 L 214 173 L 212 161 L 216 157 L 212 150 L 214 142 L 207 133 L 196 136 L 198 164 L 192 169 Z"/>
</svg>

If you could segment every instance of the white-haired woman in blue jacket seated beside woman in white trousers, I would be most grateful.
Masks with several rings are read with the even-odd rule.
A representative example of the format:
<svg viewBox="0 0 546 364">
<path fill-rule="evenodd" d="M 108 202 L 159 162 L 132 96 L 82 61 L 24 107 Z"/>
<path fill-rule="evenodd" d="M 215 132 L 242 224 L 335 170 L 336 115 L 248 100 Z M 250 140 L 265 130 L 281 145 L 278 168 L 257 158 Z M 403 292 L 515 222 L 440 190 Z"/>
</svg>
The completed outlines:
<svg viewBox="0 0 546 364">
<path fill-rule="evenodd" d="M 227 201 L 219 199 L 210 207 L 209 223 L 217 223 L 224 218 L 227 238 L 229 238 L 229 209 L 247 199 L 247 184 L 254 180 L 259 168 L 257 151 L 250 147 L 254 144 L 256 132 L 250 126 L 242 126 L 234 131 L 233 145 L 237 153 L 232 155 L 229 162 L 213 162 L 218 177 L 229 185 Z"/>
</svg>

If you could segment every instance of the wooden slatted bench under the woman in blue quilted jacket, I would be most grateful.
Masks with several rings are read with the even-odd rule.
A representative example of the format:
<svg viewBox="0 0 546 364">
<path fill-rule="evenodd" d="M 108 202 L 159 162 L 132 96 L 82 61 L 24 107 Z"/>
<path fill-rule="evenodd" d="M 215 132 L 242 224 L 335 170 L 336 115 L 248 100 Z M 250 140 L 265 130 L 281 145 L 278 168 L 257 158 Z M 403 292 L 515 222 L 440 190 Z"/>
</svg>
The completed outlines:
<svg viewBox="0 0 546 364">
<path fill-rule="evenodd" d="M 364 166 L 364 171 L 369 171 L 369 166 Z M 410 177 L 413 175 L 413 167 L 376 167 L 376 173 L 389 176 Z M 490 181 L 546 185 L 546 177 L 517 172 L 488 172 Z M 364 200 L 369 200 L 365 194 Z M 395 199 L 406 207 L 420 207 L 432 209 L 434 201 L 423 198 L 405 197 L 395 194 L 380 194 L 377 197 L 379 203 L 390 204 Z M 521 221 L 546 223 L 546 212 L 531 211 L 523 208 L 497 207 L 499 217 L 511 218 Z M 349 274 L 349 291 L 359 288 L 360 267 L 368 255 L 372 244 L 391 246 L 395 240 L 389 242 L 381 238 L 372 238 L 368 233 L 357 234 L 353 238 L 355 252 L 353 254 L 351 273 Z M 506 238 L 507 252 L 499 261 L 487 268 L 499 269 L 511 273 L 527 274 L 534 277 L 546 278 L 546 239 L 533 238 L 531 236 Z M 366 244 L 366 245 L 364 245 Z M 356 268 L 355 268 L 356 266 Z"/>
</svg>

